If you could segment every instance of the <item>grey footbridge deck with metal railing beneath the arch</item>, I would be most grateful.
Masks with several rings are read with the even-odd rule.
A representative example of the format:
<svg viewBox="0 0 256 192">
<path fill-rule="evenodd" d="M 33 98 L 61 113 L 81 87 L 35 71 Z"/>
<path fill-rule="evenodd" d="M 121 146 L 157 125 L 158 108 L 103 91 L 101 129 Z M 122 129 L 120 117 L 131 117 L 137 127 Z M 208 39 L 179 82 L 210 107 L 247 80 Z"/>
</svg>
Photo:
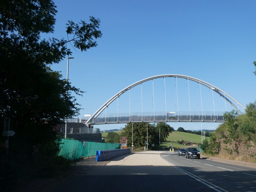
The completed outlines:
<svg viewBox="0 0 256 192">
<path fill-rule="evenodd" d="M 149 112 L 100 114 L 90 124 L 111 124 L 129 122 L 224 122 L 224 112 Z"/>
</svg>

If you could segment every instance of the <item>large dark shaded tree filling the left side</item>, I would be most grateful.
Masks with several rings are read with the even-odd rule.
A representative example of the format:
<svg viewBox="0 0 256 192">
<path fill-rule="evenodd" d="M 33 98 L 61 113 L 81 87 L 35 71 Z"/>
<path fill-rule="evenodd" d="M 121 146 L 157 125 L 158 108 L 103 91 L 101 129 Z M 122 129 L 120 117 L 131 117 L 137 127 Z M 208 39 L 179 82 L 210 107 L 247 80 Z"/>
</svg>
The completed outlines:
<svg viewBox="0 0 256 192">
<path fill-rule="evenodd" d="M 54 32 L 56 13 L 52 0 L 0 1 L 0 131 L 4 117 L 9 117 L 10 129 L 16 133 L 9 141 L 9 161 L 13 162 L 6 165 L 1 159 L 0 178 L 18 176 L 21 167 L 33 166 L 31 174 L 51 169 L 48 165 L 55 164 L 59 151 L 53 126 L 79 114 L 80 105 L 71 92 L 81 95 L 83 91 L 50 66 L 72 54 L 67 43 L 81 51 L 97 46 L 95 39 L 102 35 L 100 20 L 68 21 L 66 32 L 71 38 L 40 39 L 43 33 Z M 1 137 L 1 156 L 4 140 Z"/>
</svg>

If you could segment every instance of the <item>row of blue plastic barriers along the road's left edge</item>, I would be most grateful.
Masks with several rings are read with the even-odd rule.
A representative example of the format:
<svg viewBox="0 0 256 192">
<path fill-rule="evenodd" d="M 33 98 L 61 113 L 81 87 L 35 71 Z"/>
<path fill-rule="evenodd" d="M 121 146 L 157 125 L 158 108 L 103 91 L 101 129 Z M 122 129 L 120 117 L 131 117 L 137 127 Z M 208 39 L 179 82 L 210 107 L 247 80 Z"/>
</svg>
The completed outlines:
<svg viewBox="0 0 256 192">
<path fill-rule="evenodd" d="M 113 149 L 96 151 L 96 161 L 105 161 L 115 156 L 131 153 L 131 149 Z"/>
</svg>

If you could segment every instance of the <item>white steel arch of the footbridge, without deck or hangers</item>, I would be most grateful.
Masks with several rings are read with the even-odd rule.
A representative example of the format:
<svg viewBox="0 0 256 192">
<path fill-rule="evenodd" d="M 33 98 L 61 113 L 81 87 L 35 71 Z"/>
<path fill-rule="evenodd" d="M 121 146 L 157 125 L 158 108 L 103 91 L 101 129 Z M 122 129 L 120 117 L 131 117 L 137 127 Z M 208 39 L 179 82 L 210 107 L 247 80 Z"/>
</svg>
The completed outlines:
<svg viewBox="0 0 256 192">
<path fill-rule="evenodd" d="M 201 79 L 197 79 L 195 77 L 191 77 L 191 76 L 186 76 L 186 75 L 177 75 L 177 74 L 167 74 L 167 75 L 157 75 L 157 76 L 152 76 L 152 77 L 148 77 L 146 79 L 142 79 L 134 84 L 129 85 L 128 87 L 124 88 L 123 90 L 121 90 L 120 92 L 116 93 L 113 97 L 111 97 L 106 103 L 104 103 L 87 121 L 86 123 L 90 123 L 90 121 L 96 116 L 99 116 L 100 113 L 108 107 L 108 105 L 110 105 L 114 100 L 116 100 L 116 98 L 118 98 L 120 95 L 122 95 L 124 92 L 129 91 L 132 87 L 135 87 L 139 84 L 142 84 L 144 82 L 153 80 L 153 79 L 157 79 L 157 78 L 165 78 L 165 77 L 178 77 L 178 78 L 183 78 L 183 79 L 188 79 L 194 82 L 197 82 L 199 84 L 202 84 L 206 87 L 208 87 L 209 89 L 212 89 L 213 91 L 215 91 L 216 93 L 218 93 L 221 97 L 223 97 L 225 100 L 227 100 L 239 113 L 242 113 L 239 108 L 236 107 L 236 105 L 234 105 L 225 95 L 227 95 L 229 98 L 231 98 L 233 101 L 235 101 L 237 103 L 237 105 L 239 105 L 240 107 L 242 107 L 243 109 L 245 109 L 245 107 L 238 102 L 236 99 L 234 99 L 231 95 L 229 95 L 228 93 L 224 92 L 223 90 L 221 90 L 220 88 L 216 87 L 215 85 L 212 85 L 206 81 L 203 81 Z M 224 95 L 223 95 L 224 94 Z"/>
</svg>

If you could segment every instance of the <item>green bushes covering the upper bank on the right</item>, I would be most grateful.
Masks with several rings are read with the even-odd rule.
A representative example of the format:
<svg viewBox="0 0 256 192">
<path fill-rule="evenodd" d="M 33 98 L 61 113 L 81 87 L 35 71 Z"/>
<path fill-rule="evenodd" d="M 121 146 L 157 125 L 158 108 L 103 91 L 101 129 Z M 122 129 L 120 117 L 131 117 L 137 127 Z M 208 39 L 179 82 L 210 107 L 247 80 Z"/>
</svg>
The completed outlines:
<svg viewBox="0 0 256 192">
<path fill-rule="evenodd" d="M 243 115 L 238 115 L 237 111 L 232 110 L 226 112 L 223 117 L 226 122 L 219 125 L 215 134 L 211 135 L 210 142 L 206 140 L 201 146 L 206 152 L 211 153 L 210 150 L 213 150 L 217 153 L 220 142 L 229 146 L 229 148 L 223 146 L 229 154 L 237 154 L 240 143 L 256 144 L 256 101 L 246 106 Z"/>
</svg>

